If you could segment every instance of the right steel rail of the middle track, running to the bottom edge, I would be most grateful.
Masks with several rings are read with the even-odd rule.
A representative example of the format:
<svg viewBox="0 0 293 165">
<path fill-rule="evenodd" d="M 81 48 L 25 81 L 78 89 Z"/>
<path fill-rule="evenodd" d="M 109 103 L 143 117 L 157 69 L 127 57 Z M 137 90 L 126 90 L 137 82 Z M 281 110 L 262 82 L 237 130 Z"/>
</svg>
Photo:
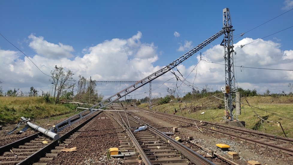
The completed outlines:
<svg viewBox="0 0 293 165">
<path fill-rule="evenodd" d="M 131 116 L 134 116 L 131 113 L 129 113 L 129 114 Z M 200 154 L 197 154 L 193 150 L 191 150 L 188 147 L 182 145 L 178 141 L 176 141 L 173 138 L 167 136 L 166 134 L 162 133 L 161 131 L 157 130 L 156 128 L 152 127 L 151 125 L 147 124 L 146 122 L 142 121 L 141 119 L 138 119 L 138 118 L 135 118 L 135 119 L 129 118 L 129 119 L 131 119 L 133 121 L 136 121 L 137 120 L 141 124 L 147 125 L 148 126 L 148 129 L 150 129 L 151 131 L 155 132 L 160 137 L 169 140 L 170 145 L 173 146 L 174 148 L 176 148 L 178 151 L 180 151 L 183 155 L 185 155 L 190 161 L 192 161 L 192 163 L 194 163 L 196 165 L 207 165 L 207 164 L 209 164 L 209 165 L 215 165 L 213 162 L 211 162 L 208 159 L 204 158 Z"/>
</svg>

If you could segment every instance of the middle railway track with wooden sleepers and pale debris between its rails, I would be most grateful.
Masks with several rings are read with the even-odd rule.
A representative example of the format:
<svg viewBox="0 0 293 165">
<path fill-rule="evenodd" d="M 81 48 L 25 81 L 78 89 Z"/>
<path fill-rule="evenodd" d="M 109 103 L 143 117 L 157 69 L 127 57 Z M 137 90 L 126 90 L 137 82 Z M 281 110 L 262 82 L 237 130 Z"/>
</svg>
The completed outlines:
<svg viewBox="0 0 293 165">
<path fill-rule="evenodd" d="M 215 164 L 210 157 L 205 158 L 192 149 L 184 146 L 166 134 L 137 118 L 126 115 L 112 114 L 116 119 L 121 119 L 120 125 L 129 130 L 132 142 L 140 153 L 141 159 L 146 164 Z M 127 121 L 127 122 L 125 122 Z M 147 125 L 147 130 L 132 133 L 141 125 Z"/>
</svg>

